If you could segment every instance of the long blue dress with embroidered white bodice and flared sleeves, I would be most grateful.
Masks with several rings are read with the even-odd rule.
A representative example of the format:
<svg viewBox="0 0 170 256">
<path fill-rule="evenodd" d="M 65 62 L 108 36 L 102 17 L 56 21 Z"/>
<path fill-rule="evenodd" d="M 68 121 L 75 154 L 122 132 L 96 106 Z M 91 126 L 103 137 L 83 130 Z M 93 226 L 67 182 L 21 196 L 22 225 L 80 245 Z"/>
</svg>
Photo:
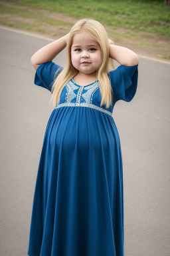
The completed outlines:
<svg viewBox="0 0 170 256">
<path fill-rule="evenodd" d="M 51 61 L 39 65 L 35 84 L 51 91 L 61 70 Z M 124 256 L 122 152 L 112 111 L 135 95 L 137 72 L 120 65 L 108 73 L 108 109 L 100 107 L 98 81 L 64 86 L 44 134 L 29 256 Z"/>
</svg>

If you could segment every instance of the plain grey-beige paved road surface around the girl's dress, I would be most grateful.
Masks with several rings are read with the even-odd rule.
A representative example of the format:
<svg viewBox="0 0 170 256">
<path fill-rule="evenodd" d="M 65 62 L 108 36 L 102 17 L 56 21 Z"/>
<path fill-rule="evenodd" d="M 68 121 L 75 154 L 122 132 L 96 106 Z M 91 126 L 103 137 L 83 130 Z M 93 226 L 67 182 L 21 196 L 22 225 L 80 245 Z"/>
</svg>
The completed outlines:
<svg viewBox="0 0 170 256">
<path fill-rule="evenodd" d="M 26 256 L 50 92 L 31 55 L 50 41 L 0 28 L 1 255 Z M 64 55 L 57 63 L 64 65 Z M 137 93 L 114 109 L 124 162 L 125 256 L 170 254 L 169 64 L 143 59 Z M 97 256 L 97 255 L 95 255 Z"/>
</svg>

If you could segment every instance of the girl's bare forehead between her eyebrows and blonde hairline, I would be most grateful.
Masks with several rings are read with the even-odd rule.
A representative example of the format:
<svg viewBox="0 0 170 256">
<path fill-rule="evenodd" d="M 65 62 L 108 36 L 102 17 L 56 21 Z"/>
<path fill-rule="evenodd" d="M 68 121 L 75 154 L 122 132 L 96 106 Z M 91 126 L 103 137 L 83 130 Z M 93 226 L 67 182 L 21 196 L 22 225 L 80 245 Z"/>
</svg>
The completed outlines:
<svg viewBox="0 0 170 256">
<path fill-rule="evenodd" d="M 84 31 L 74 35 L 72 45 L 98 45 L 98 43 Z"/>
</svg>

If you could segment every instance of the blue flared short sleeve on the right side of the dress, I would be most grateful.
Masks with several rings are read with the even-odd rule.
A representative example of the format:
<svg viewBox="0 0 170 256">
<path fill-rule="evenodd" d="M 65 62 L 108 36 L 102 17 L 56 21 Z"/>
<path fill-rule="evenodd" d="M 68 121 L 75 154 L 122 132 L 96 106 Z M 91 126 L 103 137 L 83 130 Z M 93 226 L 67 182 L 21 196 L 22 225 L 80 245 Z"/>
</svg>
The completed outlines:
<svg viewBox="0 0 170 256">
<path fill-rule="evenodd" d="M 123 66 L 108 73 L 113 89 L 114 102 L 131 101 L 137 89 L 138 65 Z"/>
</svg>

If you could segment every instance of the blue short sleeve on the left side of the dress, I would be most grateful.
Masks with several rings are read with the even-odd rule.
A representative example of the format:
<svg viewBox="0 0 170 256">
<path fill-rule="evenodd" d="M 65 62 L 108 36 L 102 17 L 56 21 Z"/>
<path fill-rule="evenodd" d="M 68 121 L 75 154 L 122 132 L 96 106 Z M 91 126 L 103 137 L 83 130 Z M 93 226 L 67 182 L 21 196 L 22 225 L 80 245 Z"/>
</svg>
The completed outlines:
<svg viewBox="0 0 170 256">
<path fill-rule="evenodd" d="M 44 87 L 51 92 L 52 84 L 62 69 L 63 67 L 56 65 L 52 61 L 42 63 L 35 73 L 35 85 Z"/>
</svg>

